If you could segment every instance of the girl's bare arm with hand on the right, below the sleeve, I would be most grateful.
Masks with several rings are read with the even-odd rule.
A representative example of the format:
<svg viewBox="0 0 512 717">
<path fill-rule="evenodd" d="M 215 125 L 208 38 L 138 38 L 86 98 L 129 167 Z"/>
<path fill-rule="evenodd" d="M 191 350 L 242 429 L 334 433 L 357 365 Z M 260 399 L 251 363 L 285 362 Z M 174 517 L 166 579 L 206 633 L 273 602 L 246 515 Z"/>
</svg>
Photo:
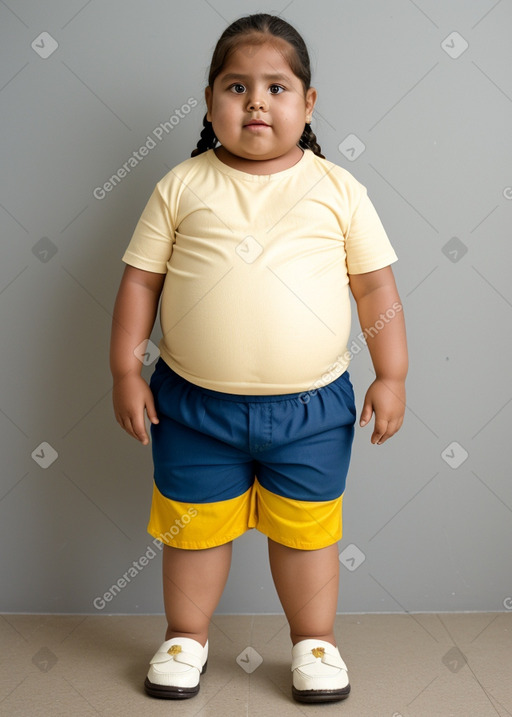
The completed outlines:
<svg viewBox="0 0 512 717">
<path fill-rule="evenodd" d="M 408 357 L 404 313 L 390 266 L 350 274 L 350 289 L 372 358 L 376 378 L 366 392 L 359 424 L 375 412 L 372 443 L 381 445 L 403 423 Z"/>
</svg>

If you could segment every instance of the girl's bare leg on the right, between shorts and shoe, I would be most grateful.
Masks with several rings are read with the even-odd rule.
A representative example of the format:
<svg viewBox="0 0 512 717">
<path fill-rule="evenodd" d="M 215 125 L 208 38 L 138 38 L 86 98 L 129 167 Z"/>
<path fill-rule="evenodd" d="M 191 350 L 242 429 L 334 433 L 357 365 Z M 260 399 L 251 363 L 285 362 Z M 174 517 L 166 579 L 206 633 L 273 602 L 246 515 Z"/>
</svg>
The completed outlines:
<svg viewBox="0 0 512 717">
<path fill-rule="evenodd" d="M 270 569 L 295 645 L 318 639 L 336 646 L 339 559 L 336 543 L 319 550 L 296 550 L 268 540 Z"/>
</svg>

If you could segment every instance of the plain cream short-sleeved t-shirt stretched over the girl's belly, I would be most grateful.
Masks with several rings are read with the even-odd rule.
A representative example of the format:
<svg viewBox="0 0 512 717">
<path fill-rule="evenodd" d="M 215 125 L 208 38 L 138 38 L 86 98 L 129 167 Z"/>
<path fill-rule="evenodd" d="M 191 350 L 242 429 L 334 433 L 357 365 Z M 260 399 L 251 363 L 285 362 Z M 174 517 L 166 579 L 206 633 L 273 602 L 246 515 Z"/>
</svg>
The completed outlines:
<svg viewBox="0 0 512 717">
<path fill-rule="evenodd" d="M 305 150 L 270 175 L 233 169 L 214 150 L 156 185 L 123 261 L 166 274 L 164 361 L 215 391 L 308 391 L 349 363 L 348 274 L 397 256 L 347 170 Z"/>
</svg>

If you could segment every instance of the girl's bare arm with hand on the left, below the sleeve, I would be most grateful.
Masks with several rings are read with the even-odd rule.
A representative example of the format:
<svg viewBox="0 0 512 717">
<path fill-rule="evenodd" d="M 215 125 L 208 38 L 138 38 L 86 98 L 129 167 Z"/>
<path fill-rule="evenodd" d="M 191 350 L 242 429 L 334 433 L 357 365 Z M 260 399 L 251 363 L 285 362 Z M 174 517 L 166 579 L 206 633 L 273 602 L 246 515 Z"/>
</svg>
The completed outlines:
<svg viewBox="0 0 512 717">
<path fill-rule="evenodd" d="M 110 370 L 114 379 L 113 403 L 118 423 L 143 445 L 149 443 L 144 410 L 158 423 L 151 389 L 142 376 L 134 350 L 148 339 L 155 323 L 165 274 L 125 268 L 114 305 L 110 343 Z"/>
</svg>

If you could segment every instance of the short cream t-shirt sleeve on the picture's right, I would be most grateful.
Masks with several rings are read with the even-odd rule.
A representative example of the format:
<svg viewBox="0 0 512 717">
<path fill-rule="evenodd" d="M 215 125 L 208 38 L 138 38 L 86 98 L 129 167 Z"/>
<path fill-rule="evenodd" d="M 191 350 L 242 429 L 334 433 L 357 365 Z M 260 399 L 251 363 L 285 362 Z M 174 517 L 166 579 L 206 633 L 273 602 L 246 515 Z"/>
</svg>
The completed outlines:
<svg viewBox="0 0 512 717">
<path fill-rule="evenodd" d="M 352 215 L 345 237 L 347 269 L 349 274 L 364 274 L 389 266 L 397 261 L 386 230 L 368 196 L 362 188 L 361 199 Z"/>
</svg>

